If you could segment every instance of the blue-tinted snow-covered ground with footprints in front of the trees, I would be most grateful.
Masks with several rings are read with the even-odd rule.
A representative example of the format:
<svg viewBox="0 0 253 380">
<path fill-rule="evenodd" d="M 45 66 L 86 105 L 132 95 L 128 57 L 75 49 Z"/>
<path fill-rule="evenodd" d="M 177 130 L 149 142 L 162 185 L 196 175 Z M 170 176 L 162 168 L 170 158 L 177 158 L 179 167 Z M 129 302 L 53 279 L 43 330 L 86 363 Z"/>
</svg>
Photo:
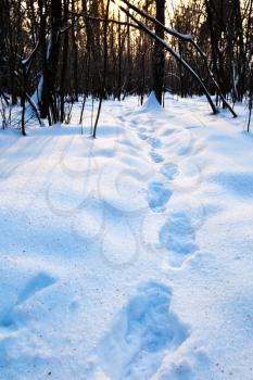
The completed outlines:
<svg viewBox="0 0 253 380">
<path fill-rule="evenodd" d="M 242 106 L 107 101 L 96 140 L 88 112 L 0 131 L 0 379 L 252 380 Z"/>
</svg>

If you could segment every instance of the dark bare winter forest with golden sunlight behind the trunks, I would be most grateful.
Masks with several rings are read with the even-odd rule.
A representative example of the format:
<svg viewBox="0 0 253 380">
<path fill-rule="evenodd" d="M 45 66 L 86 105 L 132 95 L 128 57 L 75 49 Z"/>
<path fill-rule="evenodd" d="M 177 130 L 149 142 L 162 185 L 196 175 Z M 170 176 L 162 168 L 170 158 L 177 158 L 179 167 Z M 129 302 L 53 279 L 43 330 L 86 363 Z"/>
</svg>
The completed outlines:
<svg viewBox="0 0 253 380">
<path fill-rule="evenodd" d="M 49 125 L 75 101 L 154 90 L 252 110 L 253 0 L 0 0 L 0 107 Z M 211 96 L 216 96 L 214 104 Z M 99 121 L 97 114 L 93 136 Z"/>
</svg>

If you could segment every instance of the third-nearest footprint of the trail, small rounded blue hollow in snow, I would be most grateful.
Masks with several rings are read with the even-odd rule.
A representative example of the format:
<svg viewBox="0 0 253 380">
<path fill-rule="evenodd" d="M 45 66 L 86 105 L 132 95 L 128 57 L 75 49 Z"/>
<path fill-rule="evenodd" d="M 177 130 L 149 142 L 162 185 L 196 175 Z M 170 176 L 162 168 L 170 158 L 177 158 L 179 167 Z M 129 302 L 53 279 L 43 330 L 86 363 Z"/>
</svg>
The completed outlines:
<svg viewBox="0 0 253 380">
<path fill-rule="evenodd" d="M 164 187 L 161 182 L 152 182 L 148 189 L 148 202 L 150 207 L 155 212 L 164 210 L 173 192 Z"/>
</svg>

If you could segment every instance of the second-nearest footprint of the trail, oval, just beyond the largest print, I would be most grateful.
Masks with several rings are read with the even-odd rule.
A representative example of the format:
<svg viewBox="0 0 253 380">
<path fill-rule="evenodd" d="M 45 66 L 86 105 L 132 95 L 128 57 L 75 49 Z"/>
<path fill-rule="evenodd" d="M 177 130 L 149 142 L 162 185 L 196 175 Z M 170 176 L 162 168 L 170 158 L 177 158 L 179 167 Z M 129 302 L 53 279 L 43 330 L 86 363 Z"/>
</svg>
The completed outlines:
<svg viewBox="0 0 253 380">
<path fill-rule="evenodd" d="M 190 217 L 184 212 L 172 214 L 160 231 L 160 243 L 169 252 L 170 264 L 180 266 L 186 256 L 198 250 Z"/>
</svg>

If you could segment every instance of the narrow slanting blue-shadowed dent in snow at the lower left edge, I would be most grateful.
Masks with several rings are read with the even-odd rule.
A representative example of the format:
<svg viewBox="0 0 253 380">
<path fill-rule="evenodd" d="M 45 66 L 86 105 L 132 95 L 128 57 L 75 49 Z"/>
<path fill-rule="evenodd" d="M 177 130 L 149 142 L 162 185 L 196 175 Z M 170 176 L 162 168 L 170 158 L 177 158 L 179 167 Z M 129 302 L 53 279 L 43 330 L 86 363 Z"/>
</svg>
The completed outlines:
<svg viewBox="0 0 253 380">
<path fill-rule="evenodd" d="M 11 306 L 8 313 L 3 316 L 2 320 L 0 321 L 0 326 L 15 329 L 18 324 L 25 322 L 25 316 L 24 313 L 22 313 L 22 305 L 37 292 L 52 286 L 54 282 L 55 279 L 45 273 L 40 273 L 36 277 L 31 278 L 31 280 L 20 293 L 16 303 Z"/>
</svg>

